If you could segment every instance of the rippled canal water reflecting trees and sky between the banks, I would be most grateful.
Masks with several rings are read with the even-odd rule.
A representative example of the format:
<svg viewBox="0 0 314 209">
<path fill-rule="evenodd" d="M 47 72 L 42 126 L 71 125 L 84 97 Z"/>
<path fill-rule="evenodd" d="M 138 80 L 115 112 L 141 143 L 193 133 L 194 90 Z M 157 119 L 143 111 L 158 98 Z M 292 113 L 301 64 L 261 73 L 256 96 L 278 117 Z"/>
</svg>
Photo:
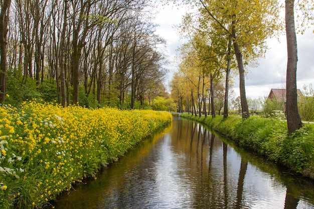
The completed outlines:
<svg viewBox="0 0 314 209">
<path fill-rule="evenodd" d="M 314 208 L 313 181 L 234 146 L 180 117 L 97 179 L 64 192 L 56 209 Z"/>
</svg>

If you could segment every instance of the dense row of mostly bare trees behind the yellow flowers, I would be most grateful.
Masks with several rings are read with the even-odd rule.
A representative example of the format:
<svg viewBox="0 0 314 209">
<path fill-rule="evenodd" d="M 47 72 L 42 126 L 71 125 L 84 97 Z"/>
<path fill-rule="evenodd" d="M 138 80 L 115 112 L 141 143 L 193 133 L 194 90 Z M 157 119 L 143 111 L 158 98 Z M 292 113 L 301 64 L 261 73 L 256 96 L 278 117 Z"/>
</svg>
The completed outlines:
<svg viewBox="0 0 314 209">
<path fill-rule="evenodd" d="M 147 0 L 1 1 L 0 103 L 134 108 L 163 95 L 165 40 L 149 8 Z"/>
</svg>

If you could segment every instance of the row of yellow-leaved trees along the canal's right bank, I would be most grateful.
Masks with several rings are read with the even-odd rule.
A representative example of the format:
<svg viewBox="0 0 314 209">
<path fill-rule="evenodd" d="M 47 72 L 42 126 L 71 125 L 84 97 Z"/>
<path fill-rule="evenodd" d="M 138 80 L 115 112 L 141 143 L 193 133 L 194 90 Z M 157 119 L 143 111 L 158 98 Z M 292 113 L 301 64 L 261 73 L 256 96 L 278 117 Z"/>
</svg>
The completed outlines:
<svg viewBox="0 0 314 209">
<path fill-rule="evenodd" d="M 175 1 L 176 2 L 176 1 Z M 294 0 L 285 0 L 285 17 L 280 19 L 280 2 L 267 1 L 184 1 L 195 3 L 196 13 L 187 14 L 179 33 L 188 40 L 180 48 L 179 72 L 172 81 L 172 96 L 193 114 L 215 117 L 215 103 L 223 104 L 224 117 L 228 117 L 229 86 L 232 72 L 239 76 L 242 118 L 250 117 L 245 91 L 245 68 L 254 65 L 256 58 L 264 56 L 268 38 L 276 37 L 285 26 L 287 38 L 286 119 L 288 132 L 301 127 L 296 89 L 297 44 L 294 21 Z M 313 20 L 314 5 L 299 1 L 304 20 Z M 302 22 L 304 25 L 306 21 Z M 215 102 L 215 88 L 224 84 L 225 98 Z M 207 107 L 208 101 L 208 107 Z M 211 111 L 208 111 L 210 109 Z M 222 108 L 219 107 L 219 110 Z"/>
</svg>

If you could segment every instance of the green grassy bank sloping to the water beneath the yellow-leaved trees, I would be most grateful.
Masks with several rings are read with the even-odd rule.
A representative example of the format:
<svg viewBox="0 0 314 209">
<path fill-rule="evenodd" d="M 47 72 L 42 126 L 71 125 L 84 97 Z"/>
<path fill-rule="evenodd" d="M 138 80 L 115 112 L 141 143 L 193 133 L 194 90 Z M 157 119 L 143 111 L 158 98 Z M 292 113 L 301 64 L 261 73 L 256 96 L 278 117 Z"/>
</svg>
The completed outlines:
<svg viewBox="0 0 314 209">
<path fill-rule="evenodd" d="M 181 114 L 207 124 L 213 130 L 234 140 L 239 146 L 266 156 L 269 160 L 284 164 L 291 171 L 314 179 L 314 124 L 305 123 L 292 135 L 287 134 L 286 121 L 276 118 L 250 116 L 195 117 Z"/>
</svg>

